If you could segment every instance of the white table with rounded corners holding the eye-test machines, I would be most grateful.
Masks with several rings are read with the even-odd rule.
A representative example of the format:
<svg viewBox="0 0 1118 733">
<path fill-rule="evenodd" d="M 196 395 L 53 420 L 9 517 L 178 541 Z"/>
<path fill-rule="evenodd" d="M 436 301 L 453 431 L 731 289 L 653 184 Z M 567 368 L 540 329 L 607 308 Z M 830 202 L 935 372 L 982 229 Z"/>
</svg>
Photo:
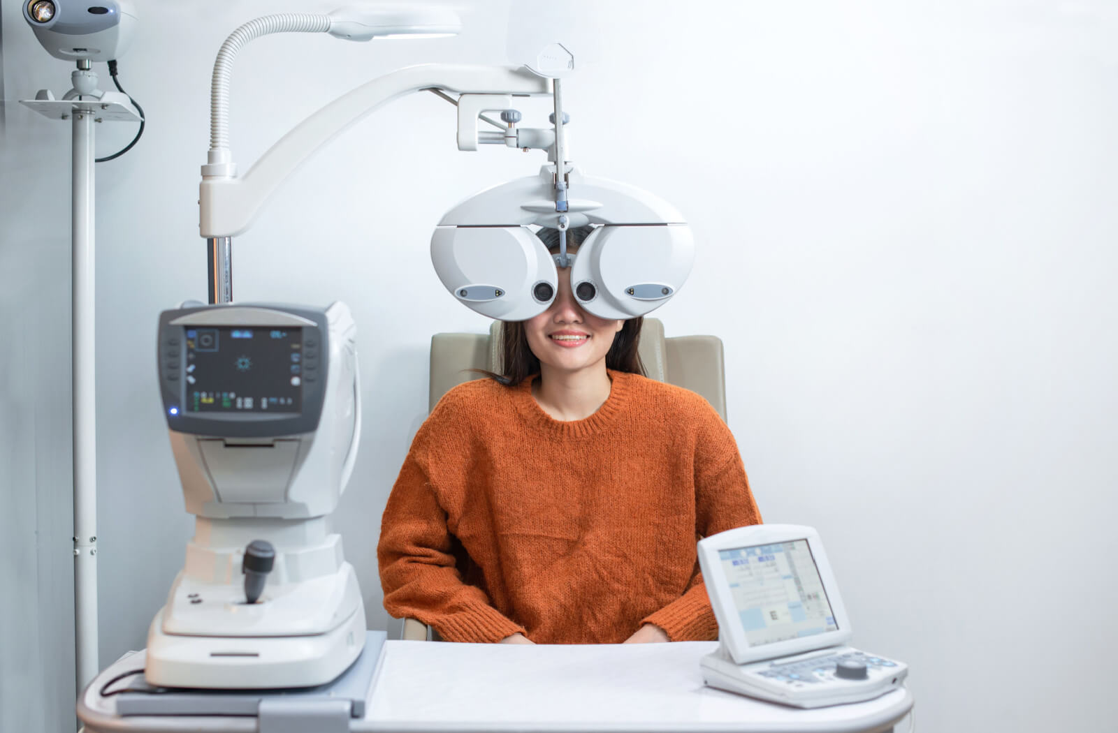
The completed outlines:
<svg viewBox="0 0 1118 733">
<path fill-rule="evenodd" d="M 877 733 L 890 731 L 912 707 L 907 689 L 815 710 L 712 689 L 703 685 L 699 658 L 716 646 L 388 641 L 366 714 L 350 721 L 350 731 Z M 85 689 L 78 713 L 87 733 L 257 730 L 253 717 L 117 716 L 115 697 L 101 697 L 101 686 L 142 666 L 142 651 L 124 657 Z"/>
</svg>

